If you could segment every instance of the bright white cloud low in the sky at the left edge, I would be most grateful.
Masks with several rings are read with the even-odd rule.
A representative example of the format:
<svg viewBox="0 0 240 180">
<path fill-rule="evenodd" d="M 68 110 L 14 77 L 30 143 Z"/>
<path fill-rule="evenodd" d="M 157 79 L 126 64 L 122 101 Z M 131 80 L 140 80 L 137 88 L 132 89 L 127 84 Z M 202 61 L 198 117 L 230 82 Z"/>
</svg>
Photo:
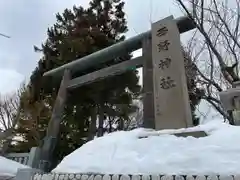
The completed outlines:
<svg viewBox="0 0 240 180">
<path fill-rule="evenodd" d="M 16 91 L 23 80 L 24 76 L 13 69 L 0 69 L 0 94 Z"/>
</svg>

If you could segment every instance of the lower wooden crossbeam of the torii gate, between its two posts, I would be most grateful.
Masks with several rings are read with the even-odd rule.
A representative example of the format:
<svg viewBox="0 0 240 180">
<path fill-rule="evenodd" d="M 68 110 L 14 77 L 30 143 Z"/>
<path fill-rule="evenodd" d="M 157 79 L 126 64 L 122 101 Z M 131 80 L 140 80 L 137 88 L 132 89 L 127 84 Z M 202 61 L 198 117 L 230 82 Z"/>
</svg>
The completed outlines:
<svg viewBox="0 0 240 180">
<path fill-rule="evenodd" d="M 143 65 L 143 58 L 137 57 L 134 59 L 131 59 L 129 61 L 124 61 L 119 64 L 100 69 L 98 71 L 86 74 L 84 76 L 77 77 L 75 79 L 72 79 L 69 82 L 68 89 L 74 89 L 78 88 L 80 86 L 90 84 L 95 81 L 99 81 L 101 79 L 104 79 L 106 77 L 115 76 L 118 74 L 122 74 L 128 70 L 131 70 L 131 68 L 139 68 Z"/>
</svg>

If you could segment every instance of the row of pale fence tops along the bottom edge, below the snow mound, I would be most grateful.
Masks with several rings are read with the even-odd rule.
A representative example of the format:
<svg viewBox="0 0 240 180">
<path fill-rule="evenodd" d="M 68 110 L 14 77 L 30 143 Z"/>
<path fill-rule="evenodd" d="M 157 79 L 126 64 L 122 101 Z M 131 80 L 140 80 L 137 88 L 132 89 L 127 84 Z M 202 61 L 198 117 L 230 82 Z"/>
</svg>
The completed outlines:
<svg viewBox="0 0 240 180">
<path fill-rule="evenodd" d="M 240 180 L 240 175 L 35 174 L 33 180 Z"/>
</svg>

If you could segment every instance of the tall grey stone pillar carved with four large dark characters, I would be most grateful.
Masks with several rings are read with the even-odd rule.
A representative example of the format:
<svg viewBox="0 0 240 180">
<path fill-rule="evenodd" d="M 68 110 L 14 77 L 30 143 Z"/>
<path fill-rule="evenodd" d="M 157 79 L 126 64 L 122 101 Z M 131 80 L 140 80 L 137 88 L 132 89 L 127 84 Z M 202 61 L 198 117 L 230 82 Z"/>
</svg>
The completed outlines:
<svg viewBox="0 0 240 180">
<path fill-rule="evenodd" d="M 173 16 L 152 24 L 155 129 L 192 126 L 180 33 Z"/>
</svg>

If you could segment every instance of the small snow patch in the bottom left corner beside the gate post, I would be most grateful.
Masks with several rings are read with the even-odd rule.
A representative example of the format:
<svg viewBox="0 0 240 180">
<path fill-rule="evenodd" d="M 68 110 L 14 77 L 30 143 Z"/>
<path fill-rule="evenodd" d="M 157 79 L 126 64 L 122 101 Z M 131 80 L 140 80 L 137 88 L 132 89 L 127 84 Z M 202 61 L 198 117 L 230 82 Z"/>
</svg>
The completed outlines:
<svg viewBox="0 0 240 180">
<path fill-rule="evenodd" d="M 0 156 L 0 177 L 15 176 L 18 169 L 26 169 L 26 168 L 30 168 L 30 167 Z"/>
</svg>

